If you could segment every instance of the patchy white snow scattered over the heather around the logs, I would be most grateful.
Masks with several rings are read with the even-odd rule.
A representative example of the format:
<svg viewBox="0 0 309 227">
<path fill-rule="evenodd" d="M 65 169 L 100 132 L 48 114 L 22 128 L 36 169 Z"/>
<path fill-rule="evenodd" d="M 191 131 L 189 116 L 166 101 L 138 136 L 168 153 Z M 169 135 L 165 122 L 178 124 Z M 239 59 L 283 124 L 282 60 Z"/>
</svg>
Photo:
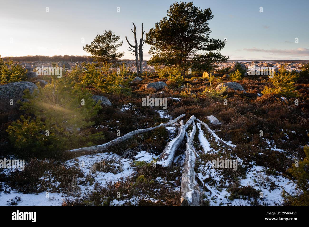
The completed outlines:
<svg viewBox="0 0 309 227">
<path fill-rule="evenodd" d="M 123 108 L 124 111 L 127 108 Z M 158 111 L 160 116 L 162 114 L 162 118 L 169 118 L 170 116 L 166 115 L 166 113 L 162 111 Z M 167 117 L 168 116 L 168 117 Z M 165 127 L 170 134 L 169 141 L 171 141 L 176 135 L 176 128 L 175 127 Z M 222 170 L 218 168 L 214 168 L 211 161 L 202 162 L 200 159 L 200 155 L 206 151 L 206 153 L 210 153 L 211 155 L 222 154 L 225 148 L 224 146 L 218 151 L 215 151 L 211 148 L 210 142 L 205 138 L 203 131 L 199 130 L 197 132 L 197 137 L 199 138 L 199 143 L 204 151 L 197 151 L 197 160 L 199 160 L 199 166 L 197 166 L 198 174 L 197 178 L 200 180 L 200 189 L 201 192 L 204 193 L 207 200 L 210 201 L 210 205 L 218 206 L 218 205 L 252 205 L 250 199 L 240 198 L 240 199 L 229 199 L 231 192 L 227 191 L 228 187 L 231 186 L 230 179 L 226 179 L 223 174 Z M 292 132 L 293 133 L 293 132 Z M 218 137 L 216 136 L 215 132 L 211 133 L 215 141 L 218 143 Z M 273 144 L 273 141 L 266 140 L 268 144 L 268 148 L 278 152 L 286 151 L 282 149 L 277 149 L 276 146 Z M 219 144 L 218 144 L 219 145 Z M 107 158 L 115 158 L 119 160 L 119 171 L 116 173 L 112 172 L 100 172 L 95 171 L 92 173 L 91 167 L 95 162 L 99 162 L 100 160 L 107 159 Z M 239 157 L 235 157 L 230 154 L 230 157 L 233 159 L 237 159 L 238 165 L 243 164 L 243 160 Z M 159 155 L 155 155 L 153 153 L 148 153 L 146 151 L 139 151 L 133 157 L 135 161 L 145 161 L 151 162 L 154 159 L 159 158 Z M 293 158 L 293 157 L 292 157 Z M 183 163 L 184 161 L 184 154 L 180 153 L 175 156 L 174 162 Z M 68 160 L 66 162 L 67 166 L 79 166 L 80 169 L 84 172 L 84 175 L 91 174 L 91 177 L 94 179 L 95 182 L 98 182 L 101 185 L 104 185 L 107 181 L 116 181 L 121 177 L 128 176 L 134 171 L 133 167 L 133 160 L 128 158 L 121 158 L 121 156 L 113 153 L 97 153 L 97 154 L 90 154 L 90 155 L 83 155 L 78 158 L 74 158 L 72 160 Z M 252 188 L 262 192 L 262 198 L 257 199 L 257 203 L 261 205 L 276 205 L 281 202 L 282 196 L 282 188 L 284 188 L 288 193 L 293 193 L 295 191 L 295 185 L 290 179 L 287 179 L 282 173 L 277 172 L 276 175 L 267 175 L 267 169 L 263 166 L 256 165 L 255 162 L 249 163 L 249 166 L 246 167 L 246 173 L 244 177 L 239 177 L 239 183 L 241 187 L 244 186 L 251 186 Z M 115 165 L 118 165 L 115 163 Z M 158 176 L 157 179 L 154 179 L 158 182 L 163 182 L 163 179 Z M 205 183 L 206 182 L 206 183 Z M 26 205 L 26 206 L 41 206 L 41 205 L 61 205 L 62 200 L 67 196 L 63 193 L 47 193 L 47 192 L 40 192 L 38 194 L 29 193 L 23 194 L 16 190 L 10 190 L 7 188 L 4 183 L 2 183 L 3 188 L 6 188 L 7 191 L 4 193 L 3 191 L 0 192 L 0 206 L 7 205 L 8 201 L 11 199 L 14 201 L 16 196 L 20 197 L 20 201 L 17 205 Z M 89 185 L 79 185 L 81 194 L 86 193 L 87 191 L 93 189 L 94 184 Z M 209 190 L 207 190 L 206 188 Z M 174 190 L 180 190 L 180 187 L 175 187 Z M 207 192 L 208 191 L 208 192 Z M 123 195 L 125 196 L 125 195 Z M 204 197 L 204 198 L 205 198 Z M 147 199 L 153 202 L 156 202 L 155 199 L 150 198 L 148 195 L 141 195 L 140 197 L 133 197 L 133 198 L 125 198 L 121 201 L 113 200 L 111 205 L 123 205 L 126 202 L 131 202 L 133 205 L 137 205 L 139 200 Z"/>
</svg>

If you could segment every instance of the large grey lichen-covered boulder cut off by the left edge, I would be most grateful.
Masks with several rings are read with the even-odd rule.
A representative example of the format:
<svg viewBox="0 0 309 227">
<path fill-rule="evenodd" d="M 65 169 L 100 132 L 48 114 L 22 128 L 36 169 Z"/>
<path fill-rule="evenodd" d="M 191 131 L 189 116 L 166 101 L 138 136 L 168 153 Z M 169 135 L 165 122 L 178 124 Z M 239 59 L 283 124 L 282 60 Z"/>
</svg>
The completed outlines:
<svg viewBox="0 0 309 227">
<path fill-rule="evenodd" d="M 28 81 L 20 81 L 14 83 L 8 83 L 0 86 L 1 105 L 0 111 L 11 111 L 19 107 L 18 100 L 26 101 L 23 99 L 23 91 L 29 89 L 32 93 L 38 87 Z M 11 105 L 13 104 L 13 105 Z"/>
</svg>

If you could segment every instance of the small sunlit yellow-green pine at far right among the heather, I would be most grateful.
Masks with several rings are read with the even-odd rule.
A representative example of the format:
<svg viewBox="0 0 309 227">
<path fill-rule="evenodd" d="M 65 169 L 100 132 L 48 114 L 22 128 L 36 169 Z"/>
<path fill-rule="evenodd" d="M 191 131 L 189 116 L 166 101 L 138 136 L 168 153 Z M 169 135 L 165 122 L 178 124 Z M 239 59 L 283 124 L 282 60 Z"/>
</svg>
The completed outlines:
<svg viewBox="0 0 309 227">
<path fill-rule="evenodd" d="M 296 74 L 287 74 L 284 67 L 279 69 L 279 73 L 274 72 L 273 78 L 270 78 L 270 82 L 272 82 L 273 87 L 265 86 L 265 89 L 262 90 L 262 94 L 278 94 L 285 97 L 295 97 L 297 96 L 298 92 L 295 91 L 294 83 L 297 79 Z"/>
</svg>

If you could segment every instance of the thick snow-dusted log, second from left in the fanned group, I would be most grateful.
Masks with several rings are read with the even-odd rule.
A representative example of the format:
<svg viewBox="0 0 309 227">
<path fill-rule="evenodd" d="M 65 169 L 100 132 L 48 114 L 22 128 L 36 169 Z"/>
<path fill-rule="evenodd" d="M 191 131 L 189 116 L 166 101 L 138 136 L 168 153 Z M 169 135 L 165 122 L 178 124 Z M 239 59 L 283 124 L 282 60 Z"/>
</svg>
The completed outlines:
<svg viewBox="0 0 309 227">
<path fill-rule="evenodd" d="M 188 128 L 188 126 L 192 123 L 192 121 L 194 121 L 196 119 L 195 116 L 191 116 L 190 119 L 186 122 L 186 124 L 182 124 L 180 121 L 180 128 L 178 130 L 178 134 L 177 136 L 172 140 L 169 141 L 166 145 L 166 147 L 164 148 L 159 161 L 157 162 L 158 165 L 161 165 L 163 167 L 170 167 L 175 153 L 177 151 L 177 149 L 179 148 L 181 142 L 184 140 L 184 135 L 185 132 Z"/>
</svg>

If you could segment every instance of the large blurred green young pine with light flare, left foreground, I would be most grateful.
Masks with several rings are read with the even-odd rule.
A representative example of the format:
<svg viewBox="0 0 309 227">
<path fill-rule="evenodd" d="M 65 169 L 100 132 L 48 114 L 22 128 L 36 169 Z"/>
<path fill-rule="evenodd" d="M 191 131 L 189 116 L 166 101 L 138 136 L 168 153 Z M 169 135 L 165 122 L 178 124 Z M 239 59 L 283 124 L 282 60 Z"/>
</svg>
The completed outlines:
<svg viewBox="0 0 309 227">
<path fill-rule="evenodd" d="M 20 109 L 32 119 L 21 116 L 21 120 L 8 127 L 14 147 L 28 153 L 53 152 L 91 146 L 104 138 L 102 132 L 93 133 L 89 129 L 102 107 L 85 86 L 53 76 L 51 84 L 38 86 L 33 93 L 25 90 L 24 94 L 28 102 L 19 102 Z"/>
</svg>

